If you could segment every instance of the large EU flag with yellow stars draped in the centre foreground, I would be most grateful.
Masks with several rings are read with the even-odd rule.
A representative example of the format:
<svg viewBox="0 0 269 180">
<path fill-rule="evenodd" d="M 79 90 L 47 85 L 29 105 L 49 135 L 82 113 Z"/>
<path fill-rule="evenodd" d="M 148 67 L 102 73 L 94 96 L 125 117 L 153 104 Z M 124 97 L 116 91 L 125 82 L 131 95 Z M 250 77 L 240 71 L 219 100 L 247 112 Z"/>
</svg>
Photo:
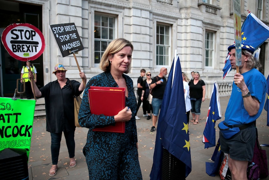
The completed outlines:
<svg viewBox="0 0 269 180">
<path fill-rule="evenodd" d="M 186 165 L 185 177 L 192 168 L 183 80 L 178 56 L 174 58 L 171 71 L 158 120 L 151 180 L 162 178 L 163 148 Z"/>
</svg>

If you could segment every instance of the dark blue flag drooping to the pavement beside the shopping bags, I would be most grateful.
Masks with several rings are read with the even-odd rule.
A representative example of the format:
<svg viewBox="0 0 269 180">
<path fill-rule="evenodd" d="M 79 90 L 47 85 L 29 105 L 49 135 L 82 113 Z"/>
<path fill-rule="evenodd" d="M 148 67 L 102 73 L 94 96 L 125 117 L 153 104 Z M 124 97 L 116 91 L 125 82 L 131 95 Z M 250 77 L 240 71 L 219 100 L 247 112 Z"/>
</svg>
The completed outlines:
<svg viewBox="0 0 269 180">
<path fill-rule="evenodd" d="M 214 162 L 205 162 L 206 173 L 209 176 L 216 176 L 223 160 L 223 152 L 220 150 L 219 139 L 211 160 Z"/>
</svg>

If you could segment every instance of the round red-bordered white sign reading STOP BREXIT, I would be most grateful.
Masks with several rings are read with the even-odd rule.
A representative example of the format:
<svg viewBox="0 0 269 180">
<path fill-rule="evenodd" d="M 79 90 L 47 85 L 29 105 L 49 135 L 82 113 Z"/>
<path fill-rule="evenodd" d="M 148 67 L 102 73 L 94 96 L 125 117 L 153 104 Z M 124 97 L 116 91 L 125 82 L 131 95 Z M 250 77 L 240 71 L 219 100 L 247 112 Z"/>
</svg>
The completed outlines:
<svg viewBox="0 0 269 180">
<path fill-rule="evenodd" d="M 21 61 L 35 60 L 45 49 L 42 32 L 28 23 L 14 23 L 7 26 L 1 39 L 7 52 Z"/>
</svg>

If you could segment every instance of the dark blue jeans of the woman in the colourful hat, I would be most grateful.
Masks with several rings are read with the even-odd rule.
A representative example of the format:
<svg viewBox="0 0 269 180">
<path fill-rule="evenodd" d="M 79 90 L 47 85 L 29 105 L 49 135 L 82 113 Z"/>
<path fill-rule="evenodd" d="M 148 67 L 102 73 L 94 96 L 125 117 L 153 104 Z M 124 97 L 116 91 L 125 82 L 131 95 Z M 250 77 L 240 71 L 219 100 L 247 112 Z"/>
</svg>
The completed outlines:
<svg viewBox="0 0 269 180">
<path fill-rule="evenodd" d="M 69 157 L 75 157 L 75 131 L 64 131 L 66 146 L 68 149 Z M 56 165 L 58 163 L 58 157 L 61 146 L 62 133 L 51 133 L 51 159 L 52 164 Z"/>
</svg>

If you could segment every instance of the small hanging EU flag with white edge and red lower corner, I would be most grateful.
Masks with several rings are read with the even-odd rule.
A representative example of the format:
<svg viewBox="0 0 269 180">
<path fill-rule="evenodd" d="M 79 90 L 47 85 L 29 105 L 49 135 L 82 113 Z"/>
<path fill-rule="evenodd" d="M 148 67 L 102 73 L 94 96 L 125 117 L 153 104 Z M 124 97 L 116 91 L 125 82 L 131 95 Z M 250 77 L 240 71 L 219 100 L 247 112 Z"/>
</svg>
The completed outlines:
<svg viewBox="0 0 269 180">
<path fill-rule="evenodd" d="M 213 147 L 216 145 L 216 121 L 220 118 L 221 111 L 218 98 L 218 88 L 217 83 L 214 82 L 206 124 L 203 131 L 204 148 Z"/>
</svg>

